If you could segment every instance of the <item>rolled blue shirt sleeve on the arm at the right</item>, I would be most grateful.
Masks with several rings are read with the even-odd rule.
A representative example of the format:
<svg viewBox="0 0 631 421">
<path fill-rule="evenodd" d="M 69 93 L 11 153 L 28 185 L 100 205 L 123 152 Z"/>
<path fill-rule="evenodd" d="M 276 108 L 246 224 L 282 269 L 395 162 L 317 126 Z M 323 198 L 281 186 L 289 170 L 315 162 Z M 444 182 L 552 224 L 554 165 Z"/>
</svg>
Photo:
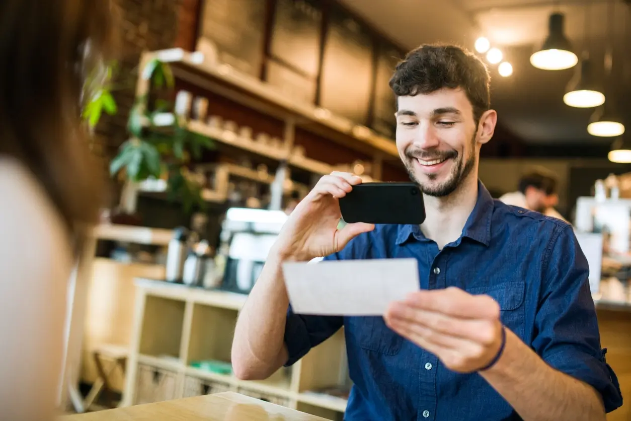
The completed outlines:
<svg viewBox="0 0 631 421">
<path fill-rule="evenodd" d="M 569 225 L 561 225 L 543 258 L 543 285 L 533 347 L 551 367 L 593 386 L 606 412 L 622 406 L 618 379 L 601 348 L 589 290 L 589 266 Z"/>
</svg>

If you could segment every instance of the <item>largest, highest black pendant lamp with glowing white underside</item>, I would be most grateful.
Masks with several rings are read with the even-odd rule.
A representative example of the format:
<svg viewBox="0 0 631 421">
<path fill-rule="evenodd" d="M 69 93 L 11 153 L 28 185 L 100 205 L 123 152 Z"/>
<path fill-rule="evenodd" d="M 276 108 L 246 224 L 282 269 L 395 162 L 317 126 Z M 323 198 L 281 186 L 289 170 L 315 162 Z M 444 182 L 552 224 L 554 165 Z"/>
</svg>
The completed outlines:
<svg viewBox="0 0 631 421">
<path fill-rule="evenodd" d="M 563 34 L 562 13 L 552 13 L 550 15 L 548 38 L 543 43 L 543 47 L 532 56 L 530 63 L 543 70 L 563 70 L 576 66 L 579 57 L 572 52 L 570 41 Z"/>
</svg>

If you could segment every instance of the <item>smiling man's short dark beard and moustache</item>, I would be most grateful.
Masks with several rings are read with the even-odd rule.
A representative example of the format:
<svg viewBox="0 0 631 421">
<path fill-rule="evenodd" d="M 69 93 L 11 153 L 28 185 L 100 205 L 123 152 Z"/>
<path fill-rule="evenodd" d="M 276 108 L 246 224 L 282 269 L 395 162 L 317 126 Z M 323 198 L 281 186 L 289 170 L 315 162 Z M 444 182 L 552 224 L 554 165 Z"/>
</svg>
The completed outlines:
<svg viewBox="0 0 631 421">
<path fill-rule="evenodd" d="M 405 157 L 408 158 L 405 162 L 406 170 L 408 170 L 408 174 L 410 175 L 410 179 L 418 184 L 423 194 L 427 194 L 427 196 L 434 196 L 437 198 L 442 198 L 444 196 L 449 196 L 449 194 L 454 193 L 458 186 L 460 186 L 461 182 L 463 182 L 469 174 L 471 174 L 471 170 L 475 166 L 475 153 L 473 153 L 475 148 L 475 134 L 472 139 L 472 148 L 471 155 L 467 158 L 466 162 L 463 163 L 463 158 L 457 154 L 456 151 L 447 151 L 447 152 L 436 152 L 436 153 L 427 153 L 425 155 L 414 153 L 413 151 L 406 151 Z M 427 160 L 432 159 L 455 159 L 456 163 L 451 170 L 451 174 L 447 177 L 447 180 L 440 184 L 432 185 L 431 181 L 435 180 L 438 174 L 425 174 L 428 179 L 430 179 L 430 183 L 423 183 L 414 174 L 414 165 L 413 160 L 416 158 L 422 158 Z"/>
</svg>

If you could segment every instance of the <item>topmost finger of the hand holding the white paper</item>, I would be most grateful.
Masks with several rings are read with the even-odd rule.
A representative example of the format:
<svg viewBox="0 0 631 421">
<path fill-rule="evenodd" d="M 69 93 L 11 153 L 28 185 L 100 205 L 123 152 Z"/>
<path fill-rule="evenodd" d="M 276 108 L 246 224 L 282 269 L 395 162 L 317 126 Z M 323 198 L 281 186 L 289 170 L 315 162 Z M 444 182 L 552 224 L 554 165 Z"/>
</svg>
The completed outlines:
<svg viewBox="0 0 631 421">
<path fill-rule="evenodd" d="M 420 290 L 408 295 L 406 304 L 417 309 L 469 319 L 499 319 L 500 306 L 488 295 L 471 295 L 459 288 Z"/>
</svg>

